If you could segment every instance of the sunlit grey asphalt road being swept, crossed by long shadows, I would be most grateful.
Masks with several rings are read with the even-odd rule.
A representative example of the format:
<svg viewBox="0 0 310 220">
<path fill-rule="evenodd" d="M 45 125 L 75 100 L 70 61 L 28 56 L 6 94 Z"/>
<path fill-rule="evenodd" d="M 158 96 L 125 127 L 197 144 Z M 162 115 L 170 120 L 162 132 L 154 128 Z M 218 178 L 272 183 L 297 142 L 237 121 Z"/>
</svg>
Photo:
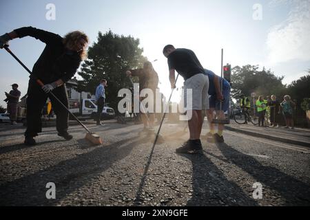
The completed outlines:
<svg viewBox="0 0 310 220">
<path fill-rule="evenodd" d="M 175 153 L 188 137 L 184 124 L 165 124 L 154 148 L 155 136 L 141 128 L 90 125 L 104 142 L 91 146 L 80 126 L 70 126 L 67 142 L 50 127 L 29 147 L 23 127 L 1 125 L 0 205 L 310 205 L 310 148 L 225 131 L 224 144 L 203 139 L 203 154 L 185 155 Z M 56 199 L 46 197 L 49 182 Z"/>
</svg>

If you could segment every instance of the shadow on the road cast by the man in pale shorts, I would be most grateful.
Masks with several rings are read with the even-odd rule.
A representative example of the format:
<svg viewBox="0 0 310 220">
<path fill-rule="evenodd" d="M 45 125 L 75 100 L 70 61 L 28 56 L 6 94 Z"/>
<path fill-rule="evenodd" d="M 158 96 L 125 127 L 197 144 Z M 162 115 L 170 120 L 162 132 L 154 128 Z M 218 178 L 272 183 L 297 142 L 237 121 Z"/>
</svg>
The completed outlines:
<svg viewBox="0 0 310 220">
<path fill-rule="evenodd" d="M 203 154 L 180 154 L 192 162 L 193 190 L 187 206 L 258 206 L 234 181 Z"/>
</svg>

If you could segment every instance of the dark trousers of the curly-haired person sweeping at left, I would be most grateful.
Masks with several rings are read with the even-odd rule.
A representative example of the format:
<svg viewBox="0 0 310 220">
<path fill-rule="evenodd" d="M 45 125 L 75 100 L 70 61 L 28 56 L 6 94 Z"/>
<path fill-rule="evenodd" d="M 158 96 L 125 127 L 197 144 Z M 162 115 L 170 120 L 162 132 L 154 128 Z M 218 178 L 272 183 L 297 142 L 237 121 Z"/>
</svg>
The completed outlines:
<svg viewBox="0 0 310 220">
<path fill-rule="evenodd" d="M 56 129 L 58 133 L 65 133 L 68 130 L 68 111 L 59 104 L 53 96 L 46 94 L 43 89 L 30 80 L 28 85 L 28 98 L 27 98 L 27 129 L 25 136 L 35 137 L 38 133 L 42 132 L 42 109 L 46 104 L 46 100 L 50 98 L 52 108 L 56 114 Z M 68 107 L 68 94 L 65 85 L 56 87 L 52 93 L 63 102 L 65 107 Z"/>
</svg>

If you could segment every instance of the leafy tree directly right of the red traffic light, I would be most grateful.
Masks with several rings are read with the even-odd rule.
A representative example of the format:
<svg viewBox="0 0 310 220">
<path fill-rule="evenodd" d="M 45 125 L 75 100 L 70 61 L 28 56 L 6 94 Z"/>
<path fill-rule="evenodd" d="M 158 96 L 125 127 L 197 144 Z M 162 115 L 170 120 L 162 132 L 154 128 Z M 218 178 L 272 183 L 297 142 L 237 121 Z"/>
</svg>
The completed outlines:
<svg viewBox="0 0 310 220">
<path fill-rule="evenodd" d="M 259 71 L 258 65 L 236 66 L 231 74 L 231 94 L 238 98 L 240 94 L 251 96 L 255 92 L 257 96 L 282 96 L 286 87 L 282 84 L 284 76 L 275 76 L 271 70 L 265 67 Z"/>
</svg>

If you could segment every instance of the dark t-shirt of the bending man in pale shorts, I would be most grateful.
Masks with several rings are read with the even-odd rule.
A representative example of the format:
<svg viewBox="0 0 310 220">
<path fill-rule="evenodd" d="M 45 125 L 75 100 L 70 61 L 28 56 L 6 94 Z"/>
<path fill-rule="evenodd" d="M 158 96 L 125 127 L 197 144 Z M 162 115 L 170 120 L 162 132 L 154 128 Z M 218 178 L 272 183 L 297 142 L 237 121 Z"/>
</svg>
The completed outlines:
<svg viewBox="0 0 310 220">
<path fill-rule="evenodd" d="M 198 61 L 192 50 L 179 48 L 168 56 L 169 69 L 176 69 L 176 72 L 183 76 L 185 80 L 196 74 L 203 74 L 203 66 Z"/>
</svg>

